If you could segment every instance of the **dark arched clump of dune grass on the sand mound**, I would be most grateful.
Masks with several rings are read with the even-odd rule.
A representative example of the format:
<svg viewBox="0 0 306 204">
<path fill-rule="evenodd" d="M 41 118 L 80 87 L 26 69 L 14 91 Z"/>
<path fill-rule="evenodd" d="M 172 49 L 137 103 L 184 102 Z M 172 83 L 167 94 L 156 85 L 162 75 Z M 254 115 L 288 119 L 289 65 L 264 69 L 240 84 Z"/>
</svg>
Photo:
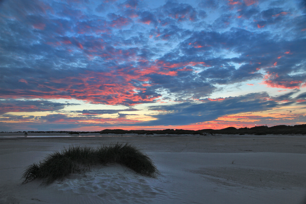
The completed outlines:
<svg viewBox="0 0 306 204">
<path fill-rule="evenodd" d="M 118 163 L 137 173 L 156 177 L 156 166 L 147 154 L 128 143 L 111 143 L 98 148 L 70 146 L 61 152 L 51 153 L 43 161 L 27 167 L 22 175 L 22 183 L 38 178 L 44 179 L 43 183 L 50 184 L 71 173 L 85 173 L 94 165 L 108 163 Z"/>
</svg>

